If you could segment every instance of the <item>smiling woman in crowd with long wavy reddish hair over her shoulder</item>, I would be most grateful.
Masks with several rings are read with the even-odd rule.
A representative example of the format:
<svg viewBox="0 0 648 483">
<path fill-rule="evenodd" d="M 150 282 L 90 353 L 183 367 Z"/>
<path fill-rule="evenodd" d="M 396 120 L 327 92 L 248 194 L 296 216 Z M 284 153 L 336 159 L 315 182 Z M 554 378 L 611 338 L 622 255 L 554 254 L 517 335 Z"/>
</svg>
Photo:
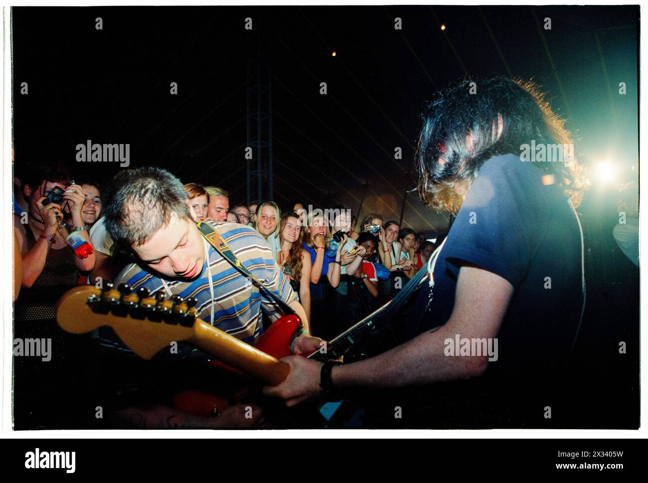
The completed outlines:
<svg viewBox="0 0 648 483">
<path fill-rule="evenodd" d="M 286 213 L 281 217 L 281 252 L 277 254 L 277 263 L 289 277 L 292 289 L 299 294 L 299 303 L 310 320 L 310 253 L 303 248 L 304 231 L 297 213 Z"/>
</svg>

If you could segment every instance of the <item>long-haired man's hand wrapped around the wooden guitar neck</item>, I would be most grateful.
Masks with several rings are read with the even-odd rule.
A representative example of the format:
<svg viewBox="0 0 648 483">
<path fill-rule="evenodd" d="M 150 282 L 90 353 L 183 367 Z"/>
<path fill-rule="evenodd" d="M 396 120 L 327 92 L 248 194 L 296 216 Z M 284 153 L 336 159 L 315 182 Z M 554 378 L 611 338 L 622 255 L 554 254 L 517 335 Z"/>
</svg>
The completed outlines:
<svg viewBox="0 0 648 483">
<path fill-rule="evenodd" d="M 288 377 L 278 386 L 264 387 L 263 394 L 281 397 L 286 406 L 292 407 L 312 399 L 322 392 L 319 385 L 322 362 L 298 355 L 284 357 L 281 360 L 290 366 Z"/>
</svg>

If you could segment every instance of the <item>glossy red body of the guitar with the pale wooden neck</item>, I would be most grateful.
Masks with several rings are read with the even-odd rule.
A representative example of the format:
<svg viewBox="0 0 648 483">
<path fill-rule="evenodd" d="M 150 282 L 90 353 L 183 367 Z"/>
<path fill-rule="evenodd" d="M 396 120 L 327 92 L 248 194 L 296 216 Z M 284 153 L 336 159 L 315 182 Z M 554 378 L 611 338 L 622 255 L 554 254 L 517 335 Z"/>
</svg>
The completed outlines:
<svg viewBox="0 0 648 483">
<path fill-rule="evenodd" d="M 272 355 L 276 359 L 292 355 L 290 352 L 290 339 L 300 325 L 301 321 L 295 315 L 279 318 L 259 337 L 255 348 Z M 211 360 L 207 364 L 213 367 L 216 372 L 227 371 L 228 373 L 248 377 L 224 362 L 220 362 L 220 360 Z M 185 390 L 173 397 L 173 405 L 178 410 L 196 416 L 214 416 L 214 414 L 218 414 L 218 412 L 231 405 L 231 399 L 232 396 L 227 394 L 216 395 L 196 390 Z"/>
</svg>

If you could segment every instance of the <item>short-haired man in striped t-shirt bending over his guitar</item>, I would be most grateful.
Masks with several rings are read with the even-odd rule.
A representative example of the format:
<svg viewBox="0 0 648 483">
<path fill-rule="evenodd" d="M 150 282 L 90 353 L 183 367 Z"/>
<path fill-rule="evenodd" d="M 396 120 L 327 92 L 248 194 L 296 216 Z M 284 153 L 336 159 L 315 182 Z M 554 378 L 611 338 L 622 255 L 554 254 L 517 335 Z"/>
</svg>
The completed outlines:
<svg viewBox="0 0 648 483">
<path fill-rule="evenodd" d="M 305 312 L 259 233 L 235 223 L 208 224 L 216 230 L 214 239 L 224 241 L 221 248 L 229 248 L 263 283 L 263 289 L 207 242 L 196 226 L 187 198 L 178 178 L 163 169 L 126 170 L 115 176 L 108 193 L 106 228 L 117 244 L 130 247 L 137 256 L 137 263 L 126 266 L 117 276 L 115 286 L 126 283 L 132 290 L 144 287 L 167 298 L 192 297 L 197 300 L 198 318 L 251 345 L 263 331 L 261 311 L 270 320 L 281 315 L 279 303 L 268 296 L 273 292 L 303 324 L 292 342 L 292 353 L 319 349 L 321 339 L 310 336 Z M 181 359 L 202 357 L 198 349 L 182 344 L 177 353 Z M 232 406 L 218 418 L 203 421 L 155 406 L 122 410 L 121 416 L 144 427 L 158 427 L 159 421 L 171 421 L 168 427 L 236 427 L 258 422 L 260 410 L 255 408 L 253 413 L 253 418 L 244 418 L 244 408 Z"/>
</svg>

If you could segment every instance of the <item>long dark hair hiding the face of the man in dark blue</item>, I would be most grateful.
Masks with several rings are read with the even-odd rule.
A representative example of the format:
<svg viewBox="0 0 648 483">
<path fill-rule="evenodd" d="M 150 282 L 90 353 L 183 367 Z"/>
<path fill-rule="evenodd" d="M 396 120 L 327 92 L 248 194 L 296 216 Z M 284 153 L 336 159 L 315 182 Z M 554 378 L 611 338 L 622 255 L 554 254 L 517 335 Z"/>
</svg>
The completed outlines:
<svg viewBox="0 0 648 483">
<path fill-rule="evenodd" d="M 538 87 L 505 77 L 462 80 L 441 91 L 422 118 L 415 161 L 419 196 L 433 209 L 455 214 L 463 202 L 461 191 L 470 187 L 488 159 L 519 155 L 520 147 L 532 140 L 536 145 L 572 144 L 564 120 L 553 113 Z M 469 136 L 473 146 L 467 143 Z M 555 182 L 580 202 L 587 180 L 576 159 L 534 164 L 553 174 Z"/>
</svg>

